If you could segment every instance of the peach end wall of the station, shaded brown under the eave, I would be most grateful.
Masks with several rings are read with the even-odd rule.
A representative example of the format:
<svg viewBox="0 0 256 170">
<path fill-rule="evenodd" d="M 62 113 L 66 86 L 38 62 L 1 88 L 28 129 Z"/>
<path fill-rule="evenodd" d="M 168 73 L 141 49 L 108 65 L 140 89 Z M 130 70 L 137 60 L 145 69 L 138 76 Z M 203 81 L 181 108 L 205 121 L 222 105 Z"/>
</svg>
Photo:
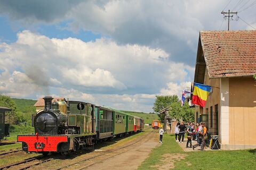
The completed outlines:
<svg viewBox="0 0 256 170">
<path fill-rule="evenodd" d="M 256 81 L 229 79 L 229 144 L 256 148 Z M 254 146 L 252 146 L 254 145 Z M 236 149 L 236 148 L 234 148 Z"/>
</svg>

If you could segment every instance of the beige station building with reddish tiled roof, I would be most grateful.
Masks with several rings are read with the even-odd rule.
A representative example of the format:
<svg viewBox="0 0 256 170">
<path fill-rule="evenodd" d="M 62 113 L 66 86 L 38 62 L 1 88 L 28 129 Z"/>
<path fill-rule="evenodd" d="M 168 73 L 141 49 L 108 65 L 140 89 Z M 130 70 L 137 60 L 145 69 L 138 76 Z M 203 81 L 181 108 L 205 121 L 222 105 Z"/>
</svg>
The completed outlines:
<svg viewBox="0 0 256 170">
<path fill-rule="evenodd" d="M 221 149 L 256 148 L 256 31 L 201 31 L 194 82 L 212 87 L 195 122 L 219 135 Z"/>
</svg>

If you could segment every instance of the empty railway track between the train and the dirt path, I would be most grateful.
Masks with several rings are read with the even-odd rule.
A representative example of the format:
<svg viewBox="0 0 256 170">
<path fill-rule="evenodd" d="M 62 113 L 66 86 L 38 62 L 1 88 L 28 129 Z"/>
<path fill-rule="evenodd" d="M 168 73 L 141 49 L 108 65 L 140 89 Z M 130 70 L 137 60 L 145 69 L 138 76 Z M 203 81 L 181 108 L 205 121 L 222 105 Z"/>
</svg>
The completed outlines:
<svg viewBox="0 0 256 170">
<path fill-rule="evenodd" d="M 153 131 L 151 131 L 151 132 L 153 132 Z M 148 136 L 149 136 L 149 134 L 151 132 L 149 132 L 148 135 L 145 138 L 141 137 L 139 140 L 137 140 L 135 142 L 132 142 L 129 145 L 126 145 L 126 146 L 123 146 L 123 147 L 119 147 L 119 148 L 114 149 L 114 150 L 109 150 L 109 151 L 106 151 L 106 152 L 103 152 L 101 154 L 94 155 L 94 156 L 91 156 L 91 157 L 87 157 L 85 159 L 79 160 L 79 161 L 77 161 L 75 163 L 71 163 L 69 165 L 62 166 L 62 167 L 57 168 L 55 170 L 60 170 L 60 169 L 76 169 L 76 170 L 81 170 L 81 169 L 87 168 L 89 166 L 92 166 L 94 164 L 97 164 L 99 162 L 102 162 L 103 160 L 109 159 L 109 158 L 117 156 L 119 154 L 123 154 L 124 152 L 127 152 L 127 151 L 130 150 L 129 149 L 130 146 L 133 146 L 135 143 L 138 143 L 138 142 L 148 138 Z M 146 139 L 146 141 L 148 141 L 148 140 L 149 139 Z"/>
</svg>

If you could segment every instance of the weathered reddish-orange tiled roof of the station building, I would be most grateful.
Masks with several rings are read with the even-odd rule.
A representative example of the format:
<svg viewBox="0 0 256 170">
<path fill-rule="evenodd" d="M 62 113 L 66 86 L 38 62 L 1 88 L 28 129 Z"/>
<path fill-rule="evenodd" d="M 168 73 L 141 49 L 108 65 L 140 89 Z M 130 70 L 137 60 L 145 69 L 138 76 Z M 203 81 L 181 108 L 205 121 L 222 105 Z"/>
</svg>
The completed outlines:
<svg viewBox="0 0 256 170">
<path fill-rule="evenodd" d="M 256 31 L 201 31 L 200 39 L 210 78 L 256 73 Z"/>
</svg>

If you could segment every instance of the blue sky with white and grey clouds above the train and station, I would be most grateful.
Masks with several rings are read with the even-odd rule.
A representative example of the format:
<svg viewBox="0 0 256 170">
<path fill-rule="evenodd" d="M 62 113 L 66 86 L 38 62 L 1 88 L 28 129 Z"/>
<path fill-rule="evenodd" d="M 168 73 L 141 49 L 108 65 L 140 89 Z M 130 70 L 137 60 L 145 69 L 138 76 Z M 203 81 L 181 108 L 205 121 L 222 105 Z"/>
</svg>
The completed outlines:
<svg viewBox="0 0 256 170">
<path fill-rule="evenodd" d="M 254 0 L 0 0 L 0 94 L 153 112 L 194 79 L 199 31 L 255 30 Z"/>
</svg>

